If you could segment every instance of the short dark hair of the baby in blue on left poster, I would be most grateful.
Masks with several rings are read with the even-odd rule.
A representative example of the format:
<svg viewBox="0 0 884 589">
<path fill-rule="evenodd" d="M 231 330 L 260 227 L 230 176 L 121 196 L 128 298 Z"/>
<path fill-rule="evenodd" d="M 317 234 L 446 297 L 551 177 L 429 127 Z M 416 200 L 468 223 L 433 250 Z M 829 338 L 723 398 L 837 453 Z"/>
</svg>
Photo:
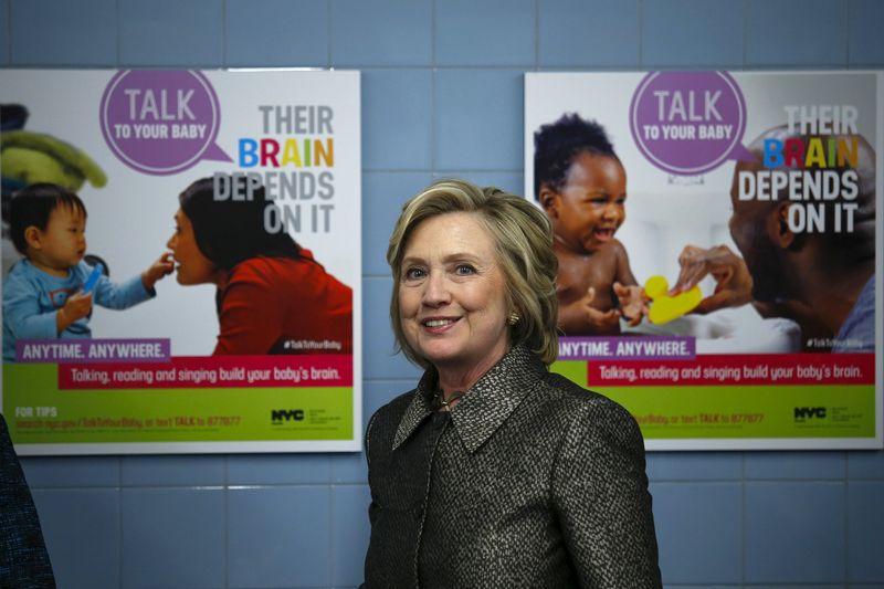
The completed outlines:
<svg viewBox="0 0 884 589">
<path fill-rule="evenodd" d="M 22 188 L 12 194 L 9 204 L 9 232 L 12 243 L 22 255 L 28 255 L 28 240 L 24 239 L 24 231 L 29 227 L 35 227 L 40 231 L 45 231 L 49 224 L 49 217 L 59 207 L 65 207 L 78 212 L 85 219 L 86 206 L 75 193 L 66 188 L 49 182 L 40 182 Z"/>
</svg>

